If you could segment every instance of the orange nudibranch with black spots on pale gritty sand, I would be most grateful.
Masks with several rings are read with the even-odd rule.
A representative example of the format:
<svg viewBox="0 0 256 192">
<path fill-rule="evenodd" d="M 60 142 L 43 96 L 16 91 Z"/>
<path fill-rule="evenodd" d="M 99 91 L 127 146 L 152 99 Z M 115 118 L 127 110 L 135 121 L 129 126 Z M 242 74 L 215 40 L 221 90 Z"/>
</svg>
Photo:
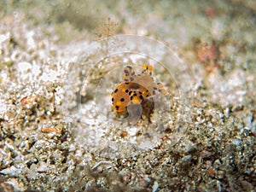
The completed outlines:
<svg viewBox="0 0 256 192">
<path fill-rule="evenodd" d="M 148 96 L 159 91 L 166 95 L 163 84 L 155 83 L 152 76 L 153 67 L 143 65 L 143 71 L 136 74 L 131 66 L 125 67 L 123 71 L 123 80 L 117 84 L 111 94 L 113 110 L 122 113 L 129 104 L 140 104 L 147 99 Z"/>
</svg>

